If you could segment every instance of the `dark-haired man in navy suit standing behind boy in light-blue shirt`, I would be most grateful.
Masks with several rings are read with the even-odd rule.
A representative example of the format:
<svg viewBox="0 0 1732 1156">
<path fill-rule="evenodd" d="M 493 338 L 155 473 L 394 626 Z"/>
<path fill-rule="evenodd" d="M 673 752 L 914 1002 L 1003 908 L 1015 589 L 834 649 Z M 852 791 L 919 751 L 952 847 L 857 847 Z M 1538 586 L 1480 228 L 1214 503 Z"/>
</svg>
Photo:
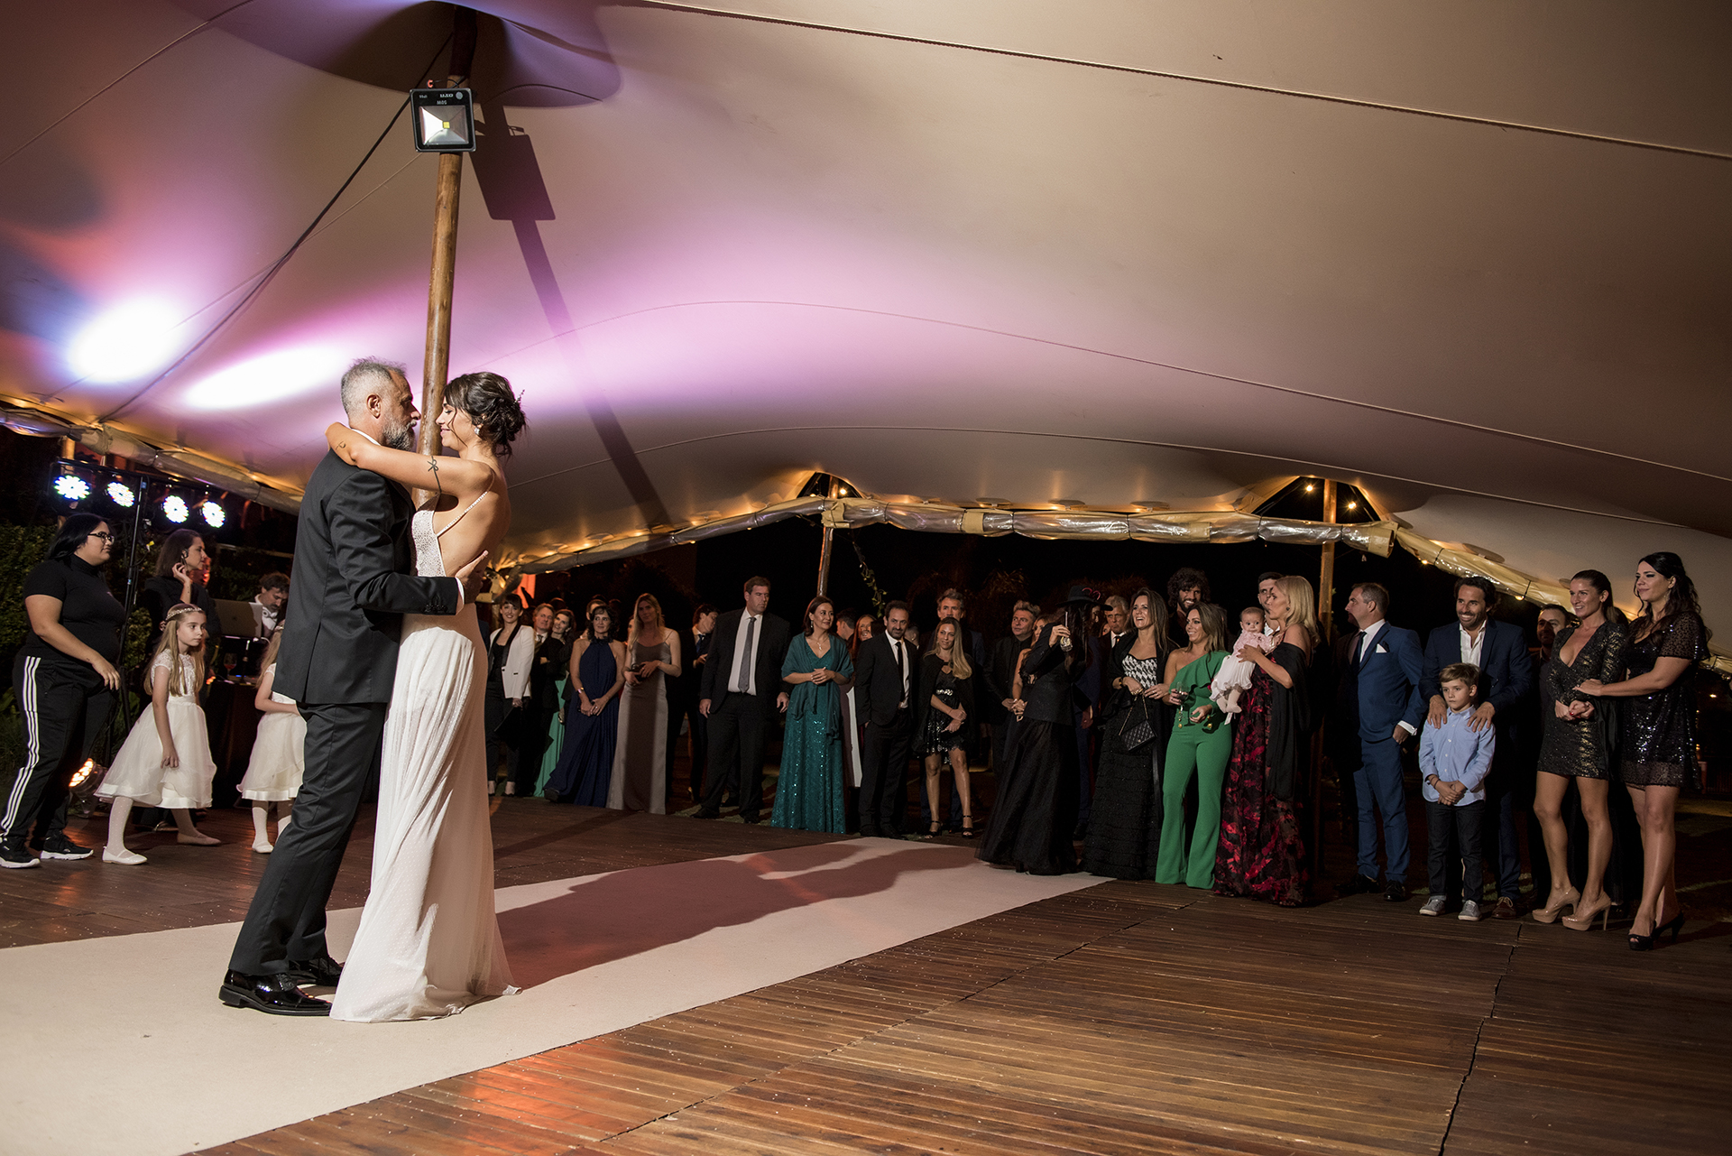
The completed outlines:
<svg viewBox="0 0 1732 1156">
<path fill-rule="evenodd" d="M 1486 778 L 1486 846 L 1495 849 L 1486 858 L 1496 865 L 1498 877 L 1498 905 L 1491 913 L 1498 919 L 1521 919 L 1521 846 L 1516 842 L 1516 787 L 1521 773 L 1517 721 L 1533 690 L 1533 660 L 1521 627 L 1491 619 L 1496 605 L 1498 589 L 1490 579 L 1457 579 L 1455 622 L 1439 626 L 1425 640 L 1420 693 L 1431 707 L 1425 724 L 1443 726 L 1448 714 L 1438 681 L 1443 667 L 1455 662 L 1479 667 L 1479 693 L 1474 697 L 1479 705 L 1467 726 L 1474 731 L 1491 726 L 1498 738 L 1491 754 L 1491 775 Z M 1476 879 L 1467 880 L 1470 889 L 1477 884 Z"/>
</svg>

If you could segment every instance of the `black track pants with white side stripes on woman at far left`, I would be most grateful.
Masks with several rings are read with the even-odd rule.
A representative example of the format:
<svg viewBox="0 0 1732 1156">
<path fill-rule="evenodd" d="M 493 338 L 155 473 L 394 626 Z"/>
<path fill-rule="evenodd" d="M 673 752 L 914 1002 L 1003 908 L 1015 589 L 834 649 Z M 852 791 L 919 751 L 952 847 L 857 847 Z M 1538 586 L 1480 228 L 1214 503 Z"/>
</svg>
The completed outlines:
<svg viewBox="0 0 1732 1156">
<path fill-rule="evenodd" d="M 66 801 L 78 764 L 114 711 L 114 693 L 83 662 L 12 662 L 12 692 L 24 723 L 24 763 L 7 790 L 0 841 L 40 848 L 66 830 Z"/>
</svg>

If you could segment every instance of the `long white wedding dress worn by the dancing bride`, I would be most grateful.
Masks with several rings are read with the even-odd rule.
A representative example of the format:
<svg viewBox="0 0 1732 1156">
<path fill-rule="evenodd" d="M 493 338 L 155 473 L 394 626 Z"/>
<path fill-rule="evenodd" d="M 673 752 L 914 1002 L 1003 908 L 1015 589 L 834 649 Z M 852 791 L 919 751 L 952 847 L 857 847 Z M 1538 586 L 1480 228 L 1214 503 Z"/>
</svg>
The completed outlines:
<svg viewBox="0 0 1732 1156">
<path fill-rule="evenodd" d="M 445 577 L 433 511 L 417 513 L 410 532 L 416 574 Z M 372 889 L 331 1019 L 433 1019 L 516 991 L 494 917 L 485 693 L 487 650 L 473 610 L 404 615 L 379 761 Z"/>
</svg>

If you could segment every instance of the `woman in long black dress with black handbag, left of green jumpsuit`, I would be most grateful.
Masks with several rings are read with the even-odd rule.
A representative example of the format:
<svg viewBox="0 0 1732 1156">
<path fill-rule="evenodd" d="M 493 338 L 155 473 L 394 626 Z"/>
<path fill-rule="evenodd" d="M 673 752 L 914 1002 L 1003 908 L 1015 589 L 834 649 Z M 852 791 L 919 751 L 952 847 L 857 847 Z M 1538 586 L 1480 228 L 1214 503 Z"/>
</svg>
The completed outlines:
<svg viewBox="0 0 1732 1156">
<path fill-rule="evenodd" d="M 1100 672 L 1100 764 L 1089 808 L 1082 870 L 1110 879 L 1154 879 L 1160 856 L 1160 756 L 1167 711 L 1160 669 L 1167 652 L 1167 603 L 1150 588 L 1131 596 L 1131 631 Z"/>
</svg>

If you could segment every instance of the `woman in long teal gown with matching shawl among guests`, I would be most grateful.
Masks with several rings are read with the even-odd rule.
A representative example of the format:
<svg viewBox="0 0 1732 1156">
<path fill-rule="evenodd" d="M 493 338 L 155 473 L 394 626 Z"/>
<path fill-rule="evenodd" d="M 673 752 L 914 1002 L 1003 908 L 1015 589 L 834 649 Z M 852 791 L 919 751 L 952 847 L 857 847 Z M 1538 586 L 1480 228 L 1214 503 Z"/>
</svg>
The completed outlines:
<svg viewBox="0 0 1732 1156">
<path fill-rule="evenodd" d="M 805 633 L 788 645 L 781 678 L 793 685 L 781 740 L 772 827 L 826 830 L 840 835 L 842 692 L 854 683 L 849 648 L 830 633 L 835 605 L 819 594 L 805 608 Z"/>
</svg>

